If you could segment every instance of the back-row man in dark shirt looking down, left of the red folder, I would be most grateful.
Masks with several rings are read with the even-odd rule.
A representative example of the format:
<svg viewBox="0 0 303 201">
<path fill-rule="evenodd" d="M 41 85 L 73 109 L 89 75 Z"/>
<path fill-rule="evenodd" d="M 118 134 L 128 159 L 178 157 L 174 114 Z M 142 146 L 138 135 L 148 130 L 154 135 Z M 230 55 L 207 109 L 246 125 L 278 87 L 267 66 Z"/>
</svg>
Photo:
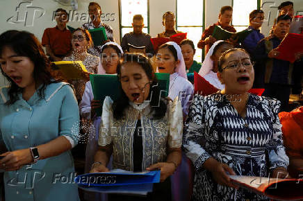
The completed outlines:
<svg viewBox="0 0 303 201">
<path fill-rule="evenodd" d="M 130 33 L 126 33 L 121 42 L 121 46 L 124 52 L 129 52 L 129 45 L 133 46 L 145 46 L 145 53 L 149 57 L 154 55 L 154 47 L 151 44 L 150 35 L 147 33 L 143 33 L 142 29 L 144 27 L 144 19 L 142 15 L 134 15 L 133 16 L 133 31 Z"/>
</svg>

